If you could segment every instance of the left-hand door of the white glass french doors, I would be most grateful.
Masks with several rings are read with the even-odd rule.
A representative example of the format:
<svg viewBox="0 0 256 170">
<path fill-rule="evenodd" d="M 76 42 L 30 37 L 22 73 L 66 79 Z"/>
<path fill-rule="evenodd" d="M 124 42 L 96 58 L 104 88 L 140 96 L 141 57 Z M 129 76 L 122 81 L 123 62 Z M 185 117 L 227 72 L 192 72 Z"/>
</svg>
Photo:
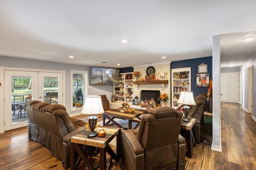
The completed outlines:
<svg viewBox="0 0 256 170">
<path fill-rule="evenodd" d="M 5 70 L 4 77 L 4 131 L 25 127 L 24 102 L 29 96 L 30 100 L 38 99 L 38 72 Z"/>
</svg>

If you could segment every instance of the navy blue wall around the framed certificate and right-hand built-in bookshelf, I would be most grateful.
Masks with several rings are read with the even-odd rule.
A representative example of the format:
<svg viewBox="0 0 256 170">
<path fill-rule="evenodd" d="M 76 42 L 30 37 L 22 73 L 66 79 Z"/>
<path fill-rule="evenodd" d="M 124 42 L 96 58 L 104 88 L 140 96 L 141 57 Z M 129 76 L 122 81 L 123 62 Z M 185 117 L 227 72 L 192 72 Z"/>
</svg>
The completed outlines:
<svg viewBox="0 0 256 170">
<path fill-rule="evenodd" d="M 198 65 L 202 63 L 208 65 L 208 73 L 210 74 L 209 75 L 210 79 L 212 79 L 212 57 L 203 57 L 203 58 L 197 58 L 197 59 L 174 61 L 171 63 L 171 69 L 191 67 L 190 81 L 191 81 L 191 91 L 193 92 L 194 98 L 198 96 L 198 94 L 200 93 L 207 93 L 207 87 L 196 87 L 196 74 L 198 74 Z"/>
</svg>

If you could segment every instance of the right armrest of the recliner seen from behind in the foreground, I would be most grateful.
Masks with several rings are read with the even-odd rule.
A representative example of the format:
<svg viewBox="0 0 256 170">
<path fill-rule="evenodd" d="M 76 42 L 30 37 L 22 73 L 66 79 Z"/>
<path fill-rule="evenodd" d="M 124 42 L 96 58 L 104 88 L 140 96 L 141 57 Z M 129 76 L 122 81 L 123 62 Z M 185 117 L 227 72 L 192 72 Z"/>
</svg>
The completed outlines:
<svg viewBox="0 0 256 170">
<path fill-rule="evenodd" d="M 182 135 L 178 138 L 178 163 L 177 170 L 183 170 L 185 167 L 185 155 L 186 155 L 186 140 Z"/>
</svg>

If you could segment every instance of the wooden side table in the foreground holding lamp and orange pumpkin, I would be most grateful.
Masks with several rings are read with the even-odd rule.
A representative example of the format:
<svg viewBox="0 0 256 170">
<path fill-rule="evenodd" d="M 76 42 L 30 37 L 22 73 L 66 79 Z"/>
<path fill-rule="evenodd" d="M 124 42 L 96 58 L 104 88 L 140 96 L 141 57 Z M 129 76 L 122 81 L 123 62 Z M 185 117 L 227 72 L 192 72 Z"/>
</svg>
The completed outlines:
<svg viewBox="0 0 256 170">
<path fill-rule="evenodd" d="M 88 160 L 88 157 L 84 154 L 84 149 L 86 145 L 100 148 L 100 170 L 109 170 L 111 168 L 112 159 L 114 159 L 116 162 L 119 162 L 120 129 L 115 127 L 98 128 L 104 129 L 106 131 L 105 137 L 87 138 L 89 129 L 86 129 L 78 133 L 77 135 L 71 137 L 71 170 L 80 168 L 78 167 L 80 164 L 80 158 L 82 158 L 82 160 L 84 161 L 84 163 L 81 166 L 88 167 L 89 170 L 94 170 L 94 167 Z M 112 141 L 114 137 L 116 137 L 116 153 L 108 145 L 108 143 Z M 83 145 L 84 147 L 81 149 L 79 145 Z M 79 154 L 78 160 L 75 160 L 75 150 Z M 106 167 L 106 152 L 108 152 L 108 154 L 110 155 L 108 167 Z"/>
</svg>

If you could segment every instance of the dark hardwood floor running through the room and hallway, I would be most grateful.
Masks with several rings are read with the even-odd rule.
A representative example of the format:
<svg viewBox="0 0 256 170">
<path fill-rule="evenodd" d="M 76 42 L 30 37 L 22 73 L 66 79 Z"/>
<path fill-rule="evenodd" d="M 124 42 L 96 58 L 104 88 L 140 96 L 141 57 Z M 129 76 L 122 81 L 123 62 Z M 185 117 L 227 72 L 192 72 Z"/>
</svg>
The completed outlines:
<svg viewBox="0 0 256 170">
<path fill-rule="evenodd" d="M 84 115 L 75 116 L 87 121 Z M 99 117 L 99 121 L 102 117 Z M 186 158 L 185 170 L 256 170 L 256 122 L 237 103 L 221 104 L 222 152 L 211 150 L 212 124 L 202 127 L 206 141 Z M 62 170 L 60 160 L 49 150 L 28 140 L 27 127 L 0 134 L 1 170 Z M 115 148 L 114 148 L 115 149 Z M 97 158 L 95 159 L 97 160 Z M 112 169 L 125 170 L 122 161 Z"/>
</svg>

